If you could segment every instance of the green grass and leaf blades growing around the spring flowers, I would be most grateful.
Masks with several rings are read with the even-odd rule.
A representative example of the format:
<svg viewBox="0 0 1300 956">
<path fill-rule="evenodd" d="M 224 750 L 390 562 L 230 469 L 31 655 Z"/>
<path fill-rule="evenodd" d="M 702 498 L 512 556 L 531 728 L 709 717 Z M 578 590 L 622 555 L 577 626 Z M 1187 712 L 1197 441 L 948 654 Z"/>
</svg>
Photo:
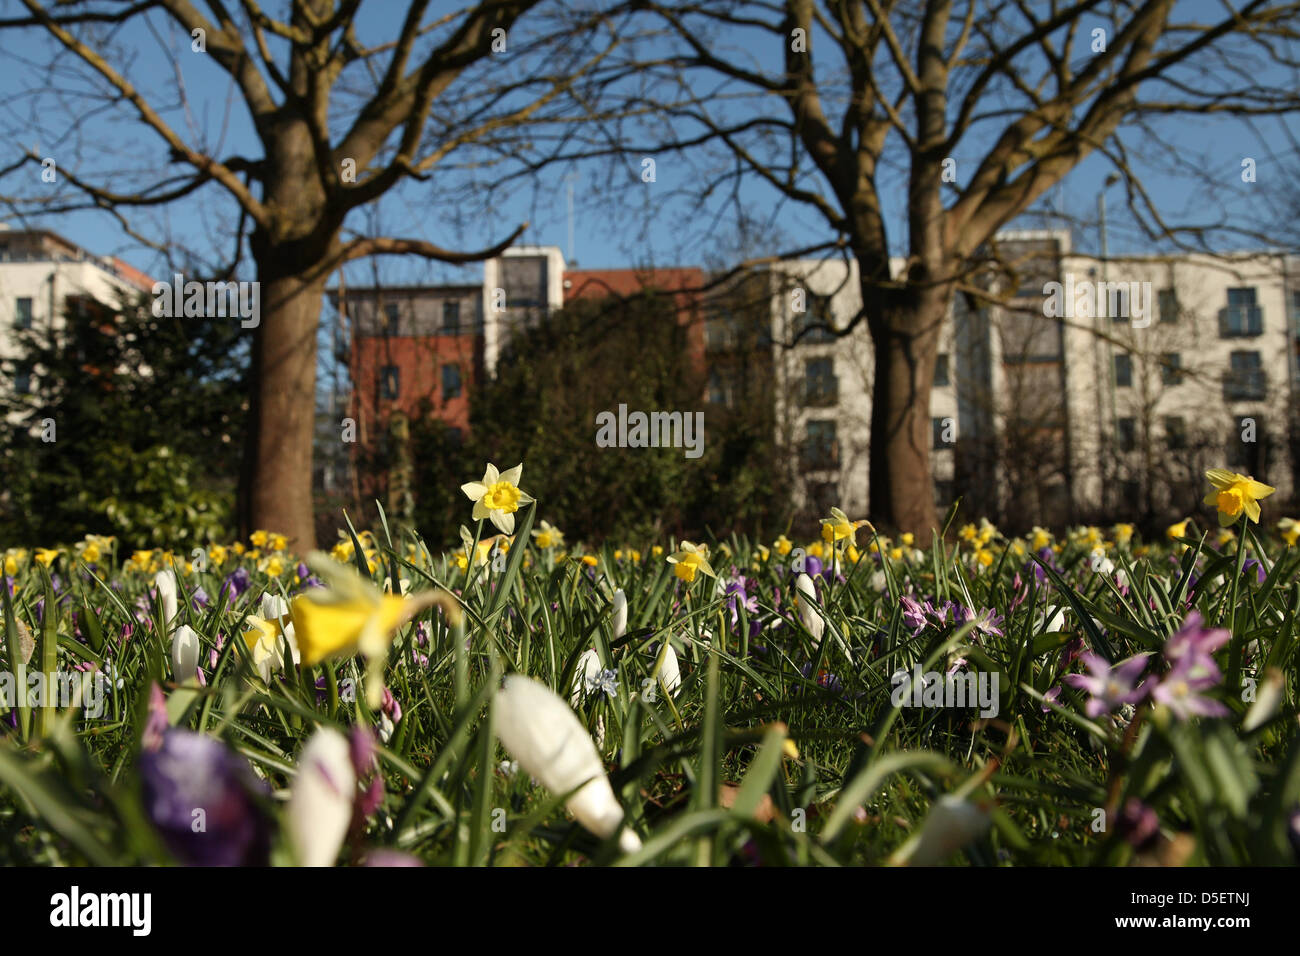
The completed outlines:
<svg viewBox="0 0 1300 956">
<path fill-rule="evenodd" d="M 1049 542 L 1044 562 L 1034 553 L 1041 542 L 992 529 L 936 536 L 918 550 L 861 528 L 857 548 L 840 557 L 842 575 L 814 575 L 819 600 L 798 607 L 794 566 L 802 557 L 815 571 L 807 564 L 815 548 L 781 554 L 771 542 L 714 541 L 722 585 L 705 575 L 688 585 L 666 562 L 676 542 L 564 554 L 532 541 L 534 509 L 516 515 L 515 544 L 489 550 L 484 564 L 464 555 L 477 554 L 490 525 L 477 527 L 468 548 L 442 551 L 416 533 L 390 533 L 386 522 L 374 535 L 348 524 L 335 559 L 376 589 L 386 579 L 406 579 L 415 593 L 446 588 L 464 611 L 456 626 L 432 609 L 396 630 L 385 671 L 390 697 L 378 713 L 367 705 L 356 657 L 300 667 L 281 646 L 285 669 L 268 682 L 257 675 L 239 635 L 263 594 L 292 598 L 302 589 L 287 553 L 216 550 L 224 559 L 203 555 L 200 568 L 164 551 L 124 559 L 112 542 L 87 538 L 47 567 L 10 550 L 0 670 L 22 685 L 32 671 L 79 665 L 110 675 L 112 692 L 94 718 L 48 700 L 0 708 L 0 858 L 195 861 L 185 840 L 160 829 L 142 780 L 157 685 L 169 732 L 220 740 L 263 782 L 247 806 L 231 805 L 261 821 L 266 858 L 277 864 L 294 861 L 286 797 L 298 754 L 321 726 L 384 736 L 378 783 L 354 812 L 339 864 L 380 851 L 430 865 L 1296 860 L 1300 548 L 1251 531 L 1239 551 L 1236 537 L 1209 533 L 1143 545 L 1075 529 Z M 86 559 L 91 545 L 96 561 Z M 1098 553 L 1113 570 L 1093 570 Z M 1262 583 L 1256 566 L 1243 567 L 1245 557 L 1260 562 Z M 178 567 L 182 592 L 172 630 L 198 633 L 204 685 L 172 672 L 153 589 L 165 564 Z M 235 593 L 238 568 L 248 581 Z M 749 579 L 749 607 L 741 601 L 733 613 L 722 589 L 736 575 Z M 628 601 L 621 632 L 615 589 Z M 205 602 L 194 600 L 198 591 Z M 1001 622 L 987 630 L 948 619 L 914 632 L 904 596 L 988 609 Z M 1156 683 L 1165 643 L 1192 610 L 1231 628 L 1216 652 L 1221 678 L 1205 691 L 1228 715 L 1180 719 L 1148 697 L 1089 718 L 1087 695 L 1062 680 L 1080 671 L 1078 653 L 1118 662 L 1150 652 Z M 820 641 L 810 631 L 818 619 Z M 27 661 L 23 627 L 34 641 Z M 673 693 L 656 674 L 666 641 L 680 661 Z M 526 674 L 568 700 L 589 648 L 616 671 L 616 687 L 581 695 L 576 711 L 642 842 L 630 855 L 612 835 L 580 826 L 564 808 L 571 795 L 512 771 L 493 734 L 503 674 Z M 997 675 L 996 717 L 892 704 L 896 671 L 918 663 L 944 671 L 959 658 L 968 671 Z M 1256 710 L 1245 730 L 1252 700 L 1274 692 L 1275 704 Z M 155 710 L 156 722 L 164 711 L 156 702 Z M 221 808 L 205 813 L 213 821 Z M 1154 829 L 1143 826 L 1152 819 Z M 226 839 L 225 826 L 202 839 Z"/>
</svg>

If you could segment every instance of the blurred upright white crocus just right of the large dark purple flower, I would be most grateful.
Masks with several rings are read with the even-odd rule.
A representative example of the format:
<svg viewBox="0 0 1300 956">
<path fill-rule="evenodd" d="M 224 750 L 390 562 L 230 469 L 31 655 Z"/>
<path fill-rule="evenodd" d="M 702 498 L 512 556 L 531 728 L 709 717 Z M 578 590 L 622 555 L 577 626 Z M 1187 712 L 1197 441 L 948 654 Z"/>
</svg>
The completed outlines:
<svg viewBox="0 0 1300 956">
<path fill-rule="evenodd" d="M 334 865 L 355 796 L 347 737 L 333 727 L 320 727 L 298 758 L 298 775 L 289 791 L 285 830 L 299 865 Z"/>
</svg>

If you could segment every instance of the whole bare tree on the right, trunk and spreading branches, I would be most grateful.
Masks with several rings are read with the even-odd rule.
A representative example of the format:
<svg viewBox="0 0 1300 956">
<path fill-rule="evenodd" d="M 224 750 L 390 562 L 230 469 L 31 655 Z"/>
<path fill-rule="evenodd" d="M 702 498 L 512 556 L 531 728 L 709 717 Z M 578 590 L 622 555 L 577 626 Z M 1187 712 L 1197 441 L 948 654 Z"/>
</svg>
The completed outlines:
<svg viewBox="0 0 1300 956">
<path fill-rule="evenodd" d="M 1294 74 L 1292 3 L 1225 4 L 1209 20 L 1175 20 L 1173 0 L 633 5 L 662 18 L 679 47 L 653 73 L 668 118 L 647 148 L 720 147 L 716 174 L 698 178 L 702 195 L 757 179 L 815 211 L 857 259 L 863 308 L 837 332 L 866 323 L 874 345 L 871 512 L 922 533 L 936 523 L 927 405 L 940 326 L 997 230 L 1100 152 L 1152 234 L 1176 241 L 1180 228 L 1150 202 L 1117 134 L 1296 101 L 1264 78 Z M 906 251 L 901 274 L 892 246 Z"/>
</svg>

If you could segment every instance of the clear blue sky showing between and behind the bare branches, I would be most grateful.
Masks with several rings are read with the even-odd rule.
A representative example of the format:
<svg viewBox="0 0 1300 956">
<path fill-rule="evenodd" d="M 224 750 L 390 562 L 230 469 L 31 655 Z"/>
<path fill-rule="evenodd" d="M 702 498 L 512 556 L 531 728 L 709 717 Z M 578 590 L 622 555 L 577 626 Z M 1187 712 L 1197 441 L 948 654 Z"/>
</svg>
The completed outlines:
<svg viewBox="0 0 1300 956">
<path fill-rule="evenodd" d="M 1209 18 L 1221 16 L 1222 7 L 1212 3 L 1179 4 L 1180 18 Z M 16 0 L 0 0 L 3 16 L 17 16 L 22 8 Z M 377 40 L 396 33 L 404 5 L 368 0 L 363 8 L 363 40 Z M 181 109 L 165 112 L 174 127 L 202 130 L 214 152 L 229 155 L 244 152 L 256 155 L 251 124 L 242 105 L 229 104 L 230 85 L 214 66 L 200 55 L 191 55 L 188 38 L 161 17 L 152 21 L 153 30 L 130 27 L 117 38 L 133 51 L 130 75 L 143 90 L 159 90 L 174 98 L 178 88 L 176 66 L 161 51 L 173 51 L 179 77 L 190 100 L 188 113 Z M 512 31 L 514 33 L 514 31 Z M 20 36 L 22 39 L 20 39 Z M 515 38 L 512 36 L 512 42 Z M 826 49 L 814 39 L 814 55 Z M 39 146 L 42 152 L 55 155 L 61 165 L 75 172 L 94 174 L 100 182 L 114 187 L 130 183 L 133 169 L 143 170 L 143 177 L 159 178 L 179 172 L 179 166 L 166 166 L 159 161 L 162 155 L 152 133 L 143 131 L 130 120 L 112 120 L 107 114 L 87 125 L 87 140 L 92 148 L 72 151 L 70 140 L 60 137 L 84 100 L 75 99 L 70 90 L 78 88 L 74 77 L 61 75 L 55 83 L 35 83 L 32 77 L 44 62 L 46 48 L 32 42 L 30 31 L 20 35 L 0 31 L 0 57 L 8 59 L 18 69 L 6 70 L 0 77 L 0 116 L 8 130 L 32 133 L 25 146 Z M 775 61 L 777 49 L 759 49 L 755 56 L 764 62 Z M 819 60 L 819 62 L 822 62 Z M 827 69 L 831 69 L 827 66 Z M 1260 66 L 1260 69 L 1264 69 Z M 1296 77 L 1273 72 L 1261 74 L 1280 88 L 1300 88 Z M 81 104 L 81 105 L 78 105 Z M 62 111 L 62 112 L 60 112 Z M 118 117 L 122 114 L 118 113 Z M 1288 126 L 1282 121 L 1262 118 L 1243 121 L 1232 117 L 1174 117 L 1164 118 L 1157 135 L 1140 130 L 1123 134 L 1126 148 L 1131 151 L 1134 165 L 1152 199 L 1173 222 L 1195 222 L 1228 217 L 1245 228 L 1257 226 L 1286 203 L 1294 202 L 1296 189 L 1292 177 L 1297 172 L 1296 156 Z M 1295 120 L 1290 120 L 1295 133 Z M 335 129 L 335 137 L 338 131 Z M 958 152 L 958 177 L 963 163 L 974 160 L 979 147 L 987 140 L 976 139 L 966 144 L 966 155 Z M 94 148 L 98 147 L 98 148 Z M 1251 156 L 1257 163 L 1257 182 L 1240 181 L 1242 159 Z M 6 155 L 0 166 L 12 161 Z M 1182 166 L 1182 168 L 1180 168 Z M 1188 173 L 1187 168 L 1195 169 Z M 1102 181 L 1112 172 L 1101 156 L 1092 156 L 1054 190 L 1048 203 L 1083 222 L 1080 245 L 1096 247 L 1096 198 Z M 575 251 L 582 267 L 618 267 L 655 263 L 696 264 L 711 258 L 727 258 L 729 243 L 728 217 L 722 209 L 722 220 L 715 221 L 718 203 L 699 207 L 688 198 L 698 181 L 698 166 L 673 156 L 656 157 L 655 183 L 642 183 L 636 157 L 628 157 L 619 166 L 608 161 L 577 164 L 573 168 L 551 166 L 533 183 L 514 195 L 484 206 L 448 198 L 463 183 L 465 174 L 454 169 L 438 172 L 432 186 L 407 183 L 377 204 L 372 212 L 387 234 L 425 238 L 450 247 L 482 247 L 508 234 L 520 221 L 530 221 L 524 242 L 568 247 L 567 242 L 567 190 L 573 182 L 576 193 Z M 30 176 L 35 176 L 29 170 Z M 593 202 L 593 186 L 601 185 L 599 195 L 606 195 L 608 183 L 625 176 L 627 186 L 619 190 L 616 203 Z M 1208 179 L 1208 182 L 1206 182 Z M 0 193 L 14 193 L 14 177 L 0 181 Z M 741 190 L 746 211 L 766 222 L 770 248 L 811 245 L 831 238 L 824 224 L 811 211 L 792 206 L 780 207 L 775 193 L 754 182 Z M 1147 251 L 1150 245 L 1139 234 L 1124 209 L 1124 187 L 1114 185 L 1108 190 L 1110 213 L 1110 247 L 1113 254 Z M 902 189 L 900 181 L 890 179 L 884 190 L 893 241 L 902 238 Z M 181 242 L 204 251 L 212 259 L 225 259 L 233 248 L 233 229 L 237 209 L 234 202 L 216 187 L 207 187 L 198 199 L 174 204 L 165 213 L 144 213 L 133 217 L 135 226 L 155 238 L 176 235 Z M 95 252 L 116 254 L 150 272 L 161 272 L 160 259 L 140 247 L 120 228 L 118 222 L 103 212 L 72 213 L 57 217 L 35 217 L 34 224 L 55 229 Z M 350 220 L 356 229 L 367 226 L 358 216 Z M 758 245 L 764 239 L 759 238 Z M 1235 237 L 1222 237 L 1221 247 L 1256 247 L 1257 242 Z M 378 276 L 384 281 L 438 281 L 476 277 L 481 267 L 455 269 L 416 259 L 384 259 Z M 370 263 L 350 267 L 348 281 L 363 282 L 372 277 Z M 246 271 L 244 277 L 251 277 Z"/>
</svg>

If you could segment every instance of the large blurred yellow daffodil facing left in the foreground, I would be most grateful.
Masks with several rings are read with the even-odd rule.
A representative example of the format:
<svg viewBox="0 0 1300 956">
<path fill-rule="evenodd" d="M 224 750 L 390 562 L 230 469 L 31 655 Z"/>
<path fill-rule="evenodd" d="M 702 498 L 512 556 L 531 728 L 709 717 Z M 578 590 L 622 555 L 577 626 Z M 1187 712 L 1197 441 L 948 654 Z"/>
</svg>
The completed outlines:
<svg viewBox="0 0 1300 956">
<path fill-rule="evenodd" d="M 294 598 L 291 615 L 303 666 L 313 667 L 328 657 L 365 656 L 365 696 L 372 710 L 384 701 L 384 663 L 393 632 L 425 607 L 438 605 L 447 620 L 460 622 L 460 606 L 445 591 L 417 594 L 385 594 L 352 568 L 328 561 L 320 551 L 308 566 L 325 583 Z"/>
</svg>

